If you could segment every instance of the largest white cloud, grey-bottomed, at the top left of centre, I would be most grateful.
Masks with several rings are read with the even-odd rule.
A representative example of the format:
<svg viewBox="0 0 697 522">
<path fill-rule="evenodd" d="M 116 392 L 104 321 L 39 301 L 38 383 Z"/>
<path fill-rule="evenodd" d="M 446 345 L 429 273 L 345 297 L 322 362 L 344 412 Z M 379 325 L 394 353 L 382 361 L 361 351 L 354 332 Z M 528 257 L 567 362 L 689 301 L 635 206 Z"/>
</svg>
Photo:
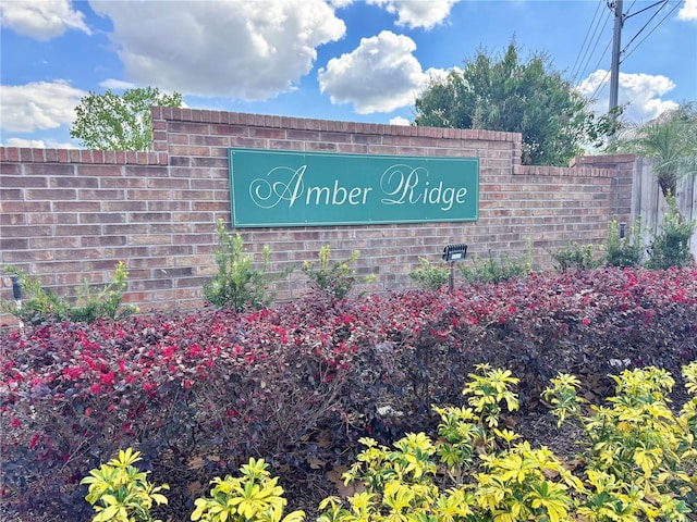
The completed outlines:
<svg viewBox="0 0 697 522">
<path fill-rule="evenodd" d="M 184 95 L 265 100 L 294 90 L 313 69 L 316 48 L 346 32 L 323 0 L 90 5 L 111 18 L 130 79 Z"/>
</svg>

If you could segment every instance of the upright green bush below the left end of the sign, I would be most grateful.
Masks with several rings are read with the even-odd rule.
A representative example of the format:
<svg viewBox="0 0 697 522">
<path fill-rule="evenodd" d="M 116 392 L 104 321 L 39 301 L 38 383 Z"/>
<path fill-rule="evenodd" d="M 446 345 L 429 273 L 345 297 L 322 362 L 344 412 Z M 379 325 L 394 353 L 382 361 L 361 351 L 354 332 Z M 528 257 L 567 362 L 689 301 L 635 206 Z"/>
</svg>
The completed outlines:
<svg viewBox="0 0 697 522">
<path fill-rule="evenodd" d="M 293 269 L 280 274 L 269 273 L 271 252 L 267 246 L 262 250 L 261 269 L 253 269 L 252 256 L 245 253 L 240 234 L 229 234 L 221 219 L 216 224 L 216 234 L 218 273 L 204 287 L 206 299 L 218 308 L 232 308 L 239 312 L 248 308 L 259 310 L 268 307 L 276 297 L 276 293 L 269 290 L 269 285 L 290 274 Z"/>
</svg>

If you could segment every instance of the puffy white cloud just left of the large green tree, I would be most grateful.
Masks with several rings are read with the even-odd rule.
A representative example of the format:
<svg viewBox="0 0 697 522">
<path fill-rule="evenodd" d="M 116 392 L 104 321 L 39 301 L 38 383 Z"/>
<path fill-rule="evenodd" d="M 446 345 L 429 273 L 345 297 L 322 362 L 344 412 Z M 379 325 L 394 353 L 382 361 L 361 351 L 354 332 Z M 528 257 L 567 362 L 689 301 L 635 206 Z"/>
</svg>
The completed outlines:
<svg viewBox="0 0 697 522">
<path fill-rule="evenodd" d="M 408 105 L 436 74 L 421 71 L 415 50 L 414 40 L 389 30 L 363 38 L 353 52 L 332 58 L 319 70 L 320 91 L 327 91 L 332 103 L 353 103 L 358 114 Z"/>
</svg>

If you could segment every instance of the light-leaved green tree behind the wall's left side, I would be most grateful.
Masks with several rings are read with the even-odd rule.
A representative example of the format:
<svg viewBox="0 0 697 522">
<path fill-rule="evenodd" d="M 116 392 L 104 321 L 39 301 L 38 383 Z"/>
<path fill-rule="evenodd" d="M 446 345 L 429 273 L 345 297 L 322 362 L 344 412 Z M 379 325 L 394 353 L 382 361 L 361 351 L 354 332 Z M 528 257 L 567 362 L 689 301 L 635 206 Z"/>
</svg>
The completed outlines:
<svg viewBox="0 0 697 522">
<path fill-rule="evenodd" d="M 152 150 L 150 108 L 181 104 L 182 95 L 162 95 L 157 87 L 127 89 L 122 96 L 90 91 L 75 108 L 70 135 L 88 149 Z"/>
</svg>

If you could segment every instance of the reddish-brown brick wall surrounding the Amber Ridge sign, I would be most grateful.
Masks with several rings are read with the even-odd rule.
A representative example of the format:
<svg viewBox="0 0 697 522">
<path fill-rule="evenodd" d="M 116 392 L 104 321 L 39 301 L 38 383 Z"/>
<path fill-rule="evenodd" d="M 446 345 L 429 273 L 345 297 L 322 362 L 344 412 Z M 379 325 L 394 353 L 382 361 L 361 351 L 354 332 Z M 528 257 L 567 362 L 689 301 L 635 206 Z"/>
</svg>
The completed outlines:
<svg viewBox="0 0 697 522">
<path fill-rule="evenodd" d="M 445 244 L 473 254 L 519 254 L 531 238 L 535 262 L 546 249 L 600 243 L 612 215 L 629 222 L 634 157 L 584 157 L 573 167 L 521 165 L 521 136 L 331 122 L 192 109 L 152 110 L 155 152 L 0 148 L 1 263 L 41 276 L 59 294 L 83 278 L 102 283 L 119 260 L 130 272 L 125 301 L 142 307 L 195 307 L 216 272 L 213 227 L 230 223 L 228 148 L 477 157 L 477 223 L 244 228 L 248 250 L 271 249 L 272 269 L 334 259 L 354 249 L 371 289 L 411 286 L 418 257 L 440 258 Z M 279 298 L 305 291 L 299 270 L 279 284 Z M 7 287 L 3 298 L 11 298 Z"/>
</svg>

